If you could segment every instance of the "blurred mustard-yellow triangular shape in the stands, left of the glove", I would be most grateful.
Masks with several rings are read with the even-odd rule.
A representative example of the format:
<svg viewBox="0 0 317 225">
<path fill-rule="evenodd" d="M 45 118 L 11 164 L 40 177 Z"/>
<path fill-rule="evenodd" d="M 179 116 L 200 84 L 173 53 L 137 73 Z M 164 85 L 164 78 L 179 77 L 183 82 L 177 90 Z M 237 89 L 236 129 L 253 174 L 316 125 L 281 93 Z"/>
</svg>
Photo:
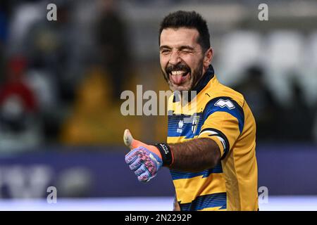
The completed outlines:
<svg viewBox="0 0 317 225">
<path fill-rule="evenodd" d="M 101 145 L 121 143 L 126 124 L 139 134 L 139 119 L 124 117 L 120 107 L 106 98 L 111 94 L 108 75 L 94 65 L 87 70 L 77 89 L 77 98 L 71 115 L 61 130 L 61 141 L 70 145 Z"/>
</svg>

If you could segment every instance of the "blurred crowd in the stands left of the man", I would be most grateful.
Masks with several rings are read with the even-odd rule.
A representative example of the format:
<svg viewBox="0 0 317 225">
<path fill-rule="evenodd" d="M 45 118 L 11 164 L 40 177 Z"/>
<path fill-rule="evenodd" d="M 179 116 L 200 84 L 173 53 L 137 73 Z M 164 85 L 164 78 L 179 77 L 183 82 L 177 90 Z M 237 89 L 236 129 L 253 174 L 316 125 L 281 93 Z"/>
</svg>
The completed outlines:
<svg viewBox="0 0 317 225">
<path fill-rule="evenodd" d="M 46 20 L 51 2 L 56 21 Z M 116 1 L 89 3 L 1 1 L 2 151 L 121 141 L 120 93 L 132 72 L 125 23 Z"/>
</svg>

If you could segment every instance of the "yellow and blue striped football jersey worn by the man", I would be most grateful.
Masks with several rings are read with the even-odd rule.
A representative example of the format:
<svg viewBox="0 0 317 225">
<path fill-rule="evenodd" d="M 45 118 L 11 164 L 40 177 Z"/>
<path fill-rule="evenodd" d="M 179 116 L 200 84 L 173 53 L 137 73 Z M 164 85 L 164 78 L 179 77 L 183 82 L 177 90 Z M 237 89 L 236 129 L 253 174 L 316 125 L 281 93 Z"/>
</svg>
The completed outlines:
<svg viewBox="0 0 317 225">
<path fill-rule="evenodd" d="M 258 210 L 256 123 L 247 102 L 218 82 L 211 65 L 194 91 L 186 104 L 170 96 L 167 141 L 213 139 L 221 160 L 201 172 L 170 169 L 180 209 Z"/>
</svg>

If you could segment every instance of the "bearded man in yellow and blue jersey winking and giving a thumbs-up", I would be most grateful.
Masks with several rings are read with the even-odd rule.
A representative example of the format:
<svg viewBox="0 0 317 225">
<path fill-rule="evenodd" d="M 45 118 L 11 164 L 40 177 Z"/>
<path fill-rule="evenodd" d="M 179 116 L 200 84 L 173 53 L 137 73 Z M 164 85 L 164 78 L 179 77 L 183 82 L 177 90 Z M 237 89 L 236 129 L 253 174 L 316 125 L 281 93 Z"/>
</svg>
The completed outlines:
<svg viewBox="0 0 317 225">
<path fill-rule="evenodd" d="M 160 62 L 172 91 L 196 91 L 189 111 L 168 107 L 168 144 L 147 145 L 125 130 L 125 156 L 139 181 L 168 167 L 175 186 L 174 210 L 258 210 L 256 124 L 241 94 L 214 75 L 209 30 L 201 15 L 177 11 L 163 19 Z M 192 105 L 196 98 L 196 111 Z"/>
</svg>

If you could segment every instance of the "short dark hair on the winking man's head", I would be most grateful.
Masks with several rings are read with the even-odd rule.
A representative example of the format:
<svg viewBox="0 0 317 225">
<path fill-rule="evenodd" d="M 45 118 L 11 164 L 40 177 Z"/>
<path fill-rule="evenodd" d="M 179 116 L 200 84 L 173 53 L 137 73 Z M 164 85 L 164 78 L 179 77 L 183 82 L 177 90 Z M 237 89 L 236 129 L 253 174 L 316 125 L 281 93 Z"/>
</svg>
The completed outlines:
<svg viewBox="0 0 317 225">
<path fill-rule="evenodd" d="M 206 20 L 202 18 L 199 13 L 195 11 L 176 11 L 174 13 L 170 13 L 163 18 L 161 22 L 161 27 L 159 31 L 159 44 L 161 39 L 161 33 L 166 28 L 194 28 L 199 32 L 199 38 L 197 39 L 197 43 L 200 44 L 201 49 L 206 51 L 210 48 L 210 34 L 207 27 Z"/>
</svg>

